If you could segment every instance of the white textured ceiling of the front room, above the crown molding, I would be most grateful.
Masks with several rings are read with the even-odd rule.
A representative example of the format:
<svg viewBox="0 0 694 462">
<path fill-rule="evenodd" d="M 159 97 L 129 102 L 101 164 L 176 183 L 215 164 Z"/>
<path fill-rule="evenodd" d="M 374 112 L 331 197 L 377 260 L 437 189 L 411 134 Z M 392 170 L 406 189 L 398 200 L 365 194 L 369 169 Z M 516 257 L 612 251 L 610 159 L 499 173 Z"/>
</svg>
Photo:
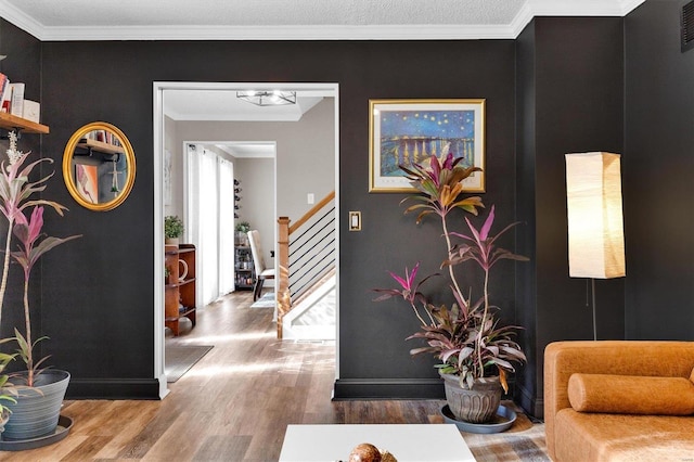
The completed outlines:
<svg viewBox="0 0 694 462">
<path fill-rule="evenodd" d="M 8 0 L 44 26 L 507 24 L 523 0 Z"/>
</svg>

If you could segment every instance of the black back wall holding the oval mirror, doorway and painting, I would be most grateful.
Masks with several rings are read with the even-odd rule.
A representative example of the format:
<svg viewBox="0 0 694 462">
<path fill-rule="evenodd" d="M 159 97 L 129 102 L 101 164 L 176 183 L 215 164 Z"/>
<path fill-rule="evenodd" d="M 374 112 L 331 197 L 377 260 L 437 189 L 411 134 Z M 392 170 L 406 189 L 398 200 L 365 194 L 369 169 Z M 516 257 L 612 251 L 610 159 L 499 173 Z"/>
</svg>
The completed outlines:
<svg viewBox="0 0 694 462">
<path fill-rule="evenodd" d="M 59 233 L 79 230 L 85 234 L 69 255 L 69 266 L 62 266 L 57 257 L 44 261 L 48 271 L 60 268 L 62 273 L 43 286 L 44 297 L 57 300 L 61 309 L 46 312 L 43 319 L 62 332 L 56 338 L 73 339 L 56 343 L 53 351 L 55 360 L 74 373 L 73 393 L 89 395 L 108 385 L 114 389 L 144 386 L 152 378 L 155 80 L 339 84 L 340 207 L 363 214 L 362 232 L 342 234 L 340 377 L 381 384 L 434 376 L 428 361 L 409 357 L 404 337 L 416 323 L 407 307 L 371 301 L 372 287 L 390 284 L 387 270 L 423 259 L 426 270 L 433 271 L 442 259 L 444 247 L 432 255 L 423 247 L 438 239 L 440 231 L 430 223 L 417 229 L 412 217 L 403 217 L 398 205 L 403 194 L 368 192 L 369 99 L 487 99 L 485 202 L 497 204 L 500 222 L 511 221 L 515 190 L 513 41 L 413 41 L 407 47 L 383 41 L 46 42 L 42 50 L 47 76 L 43 119 L 51 125 L 44 154 L 60 158 L 75 129 L 105 120 L 125 131 L 138 159 L 134 188 L 124 205 L 100 214 L 75 206 L 69 218 L 51 222 Z M 59 200 L 72 203 L 63 185 L 56 190 Z M 512 305 L 513 268 L 505 271 L 507 278 L 500 271 L 494 286 L 503 294 L 501 301 Z M 510 309 L 513 318 L 513 307 Z M 85 345 L 94 361 L 83 360 Z M 343 396 L 361 393 L 349 384 L 338 388 Z M 388 387 L 384 393 L 408 392 Z"/>
</svg>

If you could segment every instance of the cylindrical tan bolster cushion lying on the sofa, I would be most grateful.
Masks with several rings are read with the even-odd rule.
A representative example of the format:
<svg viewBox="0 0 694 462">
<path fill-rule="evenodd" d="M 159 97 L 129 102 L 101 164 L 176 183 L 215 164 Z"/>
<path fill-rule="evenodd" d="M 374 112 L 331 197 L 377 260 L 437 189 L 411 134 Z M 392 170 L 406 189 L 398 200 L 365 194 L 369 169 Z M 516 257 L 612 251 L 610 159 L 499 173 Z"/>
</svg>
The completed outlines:
<svg viewBox="0 0 694 462">
<path fill-rule="evenodd" d="M 568 400 L 580 412 L 694 414 L 694 383 L 684 377 L 571 374 Z"/>
</svg>

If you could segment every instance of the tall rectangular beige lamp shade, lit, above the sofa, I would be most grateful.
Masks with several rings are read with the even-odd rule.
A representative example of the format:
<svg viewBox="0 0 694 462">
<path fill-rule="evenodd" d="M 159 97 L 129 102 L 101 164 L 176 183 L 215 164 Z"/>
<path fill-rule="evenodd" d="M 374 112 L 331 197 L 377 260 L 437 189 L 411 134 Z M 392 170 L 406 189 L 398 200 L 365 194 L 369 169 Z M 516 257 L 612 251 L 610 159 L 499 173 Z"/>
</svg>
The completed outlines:
<svg viewBox="0 0 694 462">
<path fill-rule="evenodd" d="M 566 154 L 571 278 L 626 275 L 620 169 L 619 154 Z"/>
</svg>

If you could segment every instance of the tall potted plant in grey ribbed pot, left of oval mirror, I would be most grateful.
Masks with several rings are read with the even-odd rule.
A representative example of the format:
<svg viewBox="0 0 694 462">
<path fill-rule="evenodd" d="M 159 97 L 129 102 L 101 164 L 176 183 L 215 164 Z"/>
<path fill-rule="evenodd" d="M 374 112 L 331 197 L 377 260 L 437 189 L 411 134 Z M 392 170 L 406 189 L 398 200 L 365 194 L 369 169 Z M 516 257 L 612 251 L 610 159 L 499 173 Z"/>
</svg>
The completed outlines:
<svg viewBox="0 0 694 462">
<path fill-rule="evenodd" d="M 66 209 L 64 206 L 52 201 L 42 198 L 30 200 L 34 193 L 42 192 L 46 189 L 46 181 L 53 175 L 50 174 L 36 182 L 31 182 L 29 178 L 34 167 L 42 162 L 52 161 L 42 158 L 26 164 L 29 153 L 24 154 L 17 151 L 16 136 L 14 133 L 10 136 L 10 149 L 7 153 L 8 163 L 3 161 L 2 164 L 0 164 L 0 211 L 8 219 L 9 227 L 0 290 L 0 309 L 4 301 L 10 264 L 9 258 L 12 257 L 20 264 L 24 271 L 23 300 L 25 333 L 22 334 L 15 328 L 14 337 L 0 342 L 17 342 L 17 355 L 11 355 L 10 359 L 14 359 L 14 356 L 20 356 L 26 363 L 27 370 L 11 374 L 8 378 L 11 378 L 13 381 L 12 383 L 10 383 L 9 380 L 2 382 L 4 386 L 3 390 L 11 392 L 11 399 L 8 400 L 9 402 L 4 402 L 3 406 L 11 411 L 12 414 L 4 427 L 3 436 L 22 440 L 41 437 L 54 432 L 60 418 L 60 408 L 69 381 L 69 373 L 66 371 L 50 370 L 50 372 L 46 372 L 46 370 L 41 368 L 46 358 L 35 360 L 34 347 L 46 337 L 40 337 L 37 341 L 33 338 L 28 304 L 31 269 L 46 252 L 79 236 L 73 235 L 60 239 L 46 236 L 41 233 L 43 227 L 43 209 L 46 206 L 52 207 L 61 216 L 63 215 L 63 210 Z M 27 218 L 25 213 L 28 211 L 27 209 L 29 207 L 33 208 Z M 17 239 L 20 245 L 17 251 L 10 252 L 13 235 Z M 8 358 L 4 357 L 4 359 Z M 11 387 L 14 386 L 12 384 L 15 382 L 18 384 L 21 392 L 13 395 L 14 389 L 11 389 Z"/>
</svg>

